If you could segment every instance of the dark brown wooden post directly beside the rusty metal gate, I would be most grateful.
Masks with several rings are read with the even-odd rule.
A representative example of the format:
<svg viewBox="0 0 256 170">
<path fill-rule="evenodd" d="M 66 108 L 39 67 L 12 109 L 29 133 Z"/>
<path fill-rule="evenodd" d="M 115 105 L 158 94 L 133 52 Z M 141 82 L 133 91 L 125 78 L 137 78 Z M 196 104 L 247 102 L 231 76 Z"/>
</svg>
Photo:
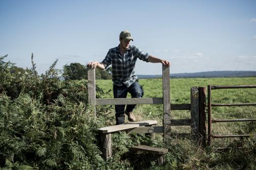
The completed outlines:
<svg viewBox="0 0 256 170">
<path fill-rule="evenodd" d="M 200 140 L 199 144 L 206 147 L 206 88 L 199 87 L 199 134 Z"/>
</svg>

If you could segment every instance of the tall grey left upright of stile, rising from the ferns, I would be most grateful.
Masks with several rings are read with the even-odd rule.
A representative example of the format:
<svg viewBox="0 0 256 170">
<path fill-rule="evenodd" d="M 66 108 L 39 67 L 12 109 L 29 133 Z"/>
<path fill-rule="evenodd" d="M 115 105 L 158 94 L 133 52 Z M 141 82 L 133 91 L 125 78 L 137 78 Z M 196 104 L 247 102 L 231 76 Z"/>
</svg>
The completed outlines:
<svg viewBox="0 0 256 170">
<path fill-rule="evenodd" d="M 88 70 L 88 103 L 94 106 L 94 112 L 96 114 L 96 85 L 95 85 L 95 68 Z"/>
</svg>

